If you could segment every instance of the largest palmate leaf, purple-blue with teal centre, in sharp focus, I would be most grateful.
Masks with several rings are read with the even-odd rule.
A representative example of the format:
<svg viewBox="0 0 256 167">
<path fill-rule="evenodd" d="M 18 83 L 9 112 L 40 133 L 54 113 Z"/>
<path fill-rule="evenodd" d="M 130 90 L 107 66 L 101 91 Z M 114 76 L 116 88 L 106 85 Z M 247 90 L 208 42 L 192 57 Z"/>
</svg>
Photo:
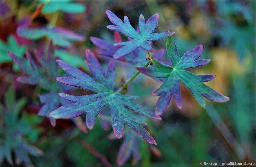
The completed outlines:
<svg viewBox="0 0 256 167">
<path fill-rule="evenodd" d="M 106 73 L 104 73 L 98 60 L 90 50 L 86 50 L 86 57 L 86 63 L 93 77 L 90 77 L 78 68 L 61 60 L 57 60 L 59 66 L 71 77 L 57 77 L 56 80 L 67 85 L 96 92 L 96 94 L 73 96 L 60 93 L 60 96 L 73 103 L 59 107 L 53 111 L 50 116 L 55 119 L 69 119 L 86 113 L 87 127 L 92 129 L 97 115 L 108 104 L 110 107 L 112 128 L 118 138 L 122 137 L 124 123 L 126 123 L 144 140 L 148 141 L 150 144 L 156 144 L 149 132 L 143 127 L 145 123 L 135 119 L 128 109 L 145 117 L 154 119 L 161 118 L 156 116 L 152 111 L 133 102 L 133 100 L 139 97 L 114 93 L 115 66 L 113 61 L 109 63 Z"/>
</svg>

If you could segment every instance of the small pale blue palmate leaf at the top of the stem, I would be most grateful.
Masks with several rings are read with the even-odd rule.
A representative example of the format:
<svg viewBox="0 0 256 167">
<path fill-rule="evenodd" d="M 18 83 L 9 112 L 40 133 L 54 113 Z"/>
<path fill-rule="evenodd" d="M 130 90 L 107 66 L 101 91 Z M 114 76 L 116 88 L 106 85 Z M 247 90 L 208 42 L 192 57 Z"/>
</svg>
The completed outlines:
<svg viewBox="0 0 256 167">
<path fill-rule="evenodd" d="M 114 58 L 120 58 L 128 55 L 138 47 L 146 51 L 154 52 L 149 41 L 159 40 L 172 36 L 174 31 L 167 31 L 162 33 L 153 33 L 157 28 L 159 21 L 159 14 L 154 14 L 145 23 L 145 18 L 141 14 L 139 16 L 139 32 L 137 32 L 130 24 L 127 16 L 124 16 L 124 22 L 118 18 L 112 11 L 106 10 L 107 17 L 113 23 L 113 25 L 107 26 L 107 28 L 122 33 L 123 35 L 132 38 L 133 40 L 127 42 L 116 43 L 115 45 L 124 45 L 119 48 L 113 55 Z"/>
</svg>

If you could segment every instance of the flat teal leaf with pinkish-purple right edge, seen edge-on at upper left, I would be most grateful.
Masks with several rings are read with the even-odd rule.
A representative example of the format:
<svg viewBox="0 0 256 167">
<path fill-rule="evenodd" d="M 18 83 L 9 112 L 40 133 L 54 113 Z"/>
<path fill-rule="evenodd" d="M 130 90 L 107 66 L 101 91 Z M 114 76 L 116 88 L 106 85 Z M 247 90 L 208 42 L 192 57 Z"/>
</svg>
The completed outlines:
<svg viewBox="0 0 256 167">
<path fill-rule="evenodd" d="M 64 47 L 71 45 L 72 41 L 84 41 L 84 36 L 57 26 L 42 26 L 39 28 L 19 27 L 17 34 L 32 40 L 47 37 L 52 39 L 54 45 Z"/>
</svg>

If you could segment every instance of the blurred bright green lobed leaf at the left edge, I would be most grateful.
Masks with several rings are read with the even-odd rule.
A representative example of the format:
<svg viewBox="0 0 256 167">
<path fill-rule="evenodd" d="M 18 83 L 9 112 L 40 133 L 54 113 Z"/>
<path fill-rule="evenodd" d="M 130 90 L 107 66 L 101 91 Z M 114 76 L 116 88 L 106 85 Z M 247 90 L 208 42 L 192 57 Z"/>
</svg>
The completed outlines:
<svg viewBox="0 0 256 167">
<path fill-rule="evenodd" d="M 21 58 L 24 56 L 26 49 L 26 46 L 19 45 L 13 36 L 8 36 L 6 44 L 0 41 L 0 63 L 12 62 L 7 53 L 8 51 L 11 51 Z M 14 69 L 18 70 L 19 68 L 14 67 Z"/>
</svg>

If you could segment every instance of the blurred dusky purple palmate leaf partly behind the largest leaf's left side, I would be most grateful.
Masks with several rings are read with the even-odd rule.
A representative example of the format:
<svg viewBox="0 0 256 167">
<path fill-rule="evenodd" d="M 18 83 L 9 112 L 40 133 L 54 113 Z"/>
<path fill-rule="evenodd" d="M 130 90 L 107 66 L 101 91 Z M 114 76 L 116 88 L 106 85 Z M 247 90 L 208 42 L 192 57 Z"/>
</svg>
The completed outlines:
<svg viewBox="0 0 256 167">
<path fill-rule="evenodd" d="M 67 85 L 56 82 L 55 78 L 60 76 L 58 65 L 55 62 L 55 48 L 52 41 L 50 41 L 48 52 L 46 56 L 39 56 L 35 51 L 35 57 L 37 58 L 40 66 L 31 58 L 31 55 L 26 52 L 25 61 L 23 58 L 19 58 L 14 53 L 9 52 L 11 59 L 19 66 L 21 71 L 25 74 L 22 77 L 18 77 L 17 81 L 25 84 L 38 85 L 48 93 L 39 95 L 41 104 L 44 104 L 38 112 L 38 115 L 49 117 L 49 114 L 59 107 L 59 104 L 66 104 L 67 100 L 64 100 L 59 96 L 59 92 L 64 92 L 70 88 Z M 52 126 L 55 126 L 56 120 L 49 117 Z M 72 119 L 76 125 L 79 125 L 79 129 L 86 131 L 86 127 L 81 125 L 80 119 Z"/>
</svg>

